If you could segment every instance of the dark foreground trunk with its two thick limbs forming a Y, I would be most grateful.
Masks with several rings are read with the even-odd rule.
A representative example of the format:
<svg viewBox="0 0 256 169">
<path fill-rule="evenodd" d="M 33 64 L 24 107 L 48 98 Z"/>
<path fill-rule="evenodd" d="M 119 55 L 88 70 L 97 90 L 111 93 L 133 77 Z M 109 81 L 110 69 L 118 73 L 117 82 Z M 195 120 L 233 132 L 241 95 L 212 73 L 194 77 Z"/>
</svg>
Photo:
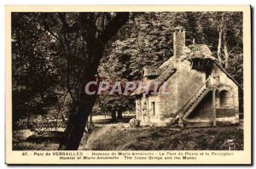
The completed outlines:
<svg viewBox="0 0 256 169">
<path fill-rule="evenodd" d="M 75 101 L 71 111 L 65 134 L 61 139 L 59 149 L 77 150 L 81 138 L 84 135 L 84 128 L 88 121 L 90 112 L 96 102 L 96 95 L 89 95 L 84 92 L 85 85 L 90 81 L 96 81 L 97 68 L 102 59 L 106 43 L 125 25 L 129 20 L 129 13 L 117 13 L 108 25 L 105 25 L 100 36 L 95 25 L 94 13 L 80 13 L 79 25 L 81 37 L 83 37 L 87 49 L 87 60 L 84 63 L 83 76 L 81 81 L 81 90 L 79 92 L 79 101 Z M 62 19 L 63 25 L 66 25 L 65 15 Z M 104 19 L 104 18 L 103 18 Z M 74 101 L 74 100 L 73 100 Z"/>
</svg>

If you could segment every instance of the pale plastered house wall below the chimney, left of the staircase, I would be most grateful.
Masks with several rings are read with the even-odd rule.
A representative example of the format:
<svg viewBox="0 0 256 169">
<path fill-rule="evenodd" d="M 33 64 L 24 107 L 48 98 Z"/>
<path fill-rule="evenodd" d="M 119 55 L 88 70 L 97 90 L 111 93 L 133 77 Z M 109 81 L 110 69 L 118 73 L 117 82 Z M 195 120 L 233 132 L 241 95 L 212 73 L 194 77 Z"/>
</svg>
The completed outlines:
<svg viewBox="0 0 256 169">
<path fill-rule="evenodd" d="M 206 81 L 205 73 L 191 70 L 190 62 L 187 60 L 177 61 L 176 68 L 176 73 L 167 81 L 171 94 L 160 95 L 160 116 L 164 121 L 173 118 L 177 110 L 181 109 Z"/>
</svg>

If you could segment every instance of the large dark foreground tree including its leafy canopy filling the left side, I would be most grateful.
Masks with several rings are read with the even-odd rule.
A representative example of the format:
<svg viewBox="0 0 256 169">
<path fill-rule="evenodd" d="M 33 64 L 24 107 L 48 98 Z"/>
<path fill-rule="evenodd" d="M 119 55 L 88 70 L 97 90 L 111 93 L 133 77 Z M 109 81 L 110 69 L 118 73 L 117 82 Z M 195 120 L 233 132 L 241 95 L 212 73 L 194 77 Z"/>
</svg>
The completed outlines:
<svg viewBox="0 0 256 169">
<path fill-rule="evenodd" d="M 96 100 L 84 87 L 96 81 L 105 46 L 128 20 L 129 13 L 12 15 L 14 110 L 29 117 L 42 104 L 56 104 L 57 93 L 61 98 L 67 91 L 73 103 L 60 149 L 79 148 Z"/>
</svg>

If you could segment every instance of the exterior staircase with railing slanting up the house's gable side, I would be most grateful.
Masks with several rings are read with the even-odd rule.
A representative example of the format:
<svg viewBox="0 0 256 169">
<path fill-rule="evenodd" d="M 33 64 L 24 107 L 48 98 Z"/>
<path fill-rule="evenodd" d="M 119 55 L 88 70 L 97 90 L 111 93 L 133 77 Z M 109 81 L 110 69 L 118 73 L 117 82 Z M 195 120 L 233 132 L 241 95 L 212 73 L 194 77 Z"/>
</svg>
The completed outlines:
<svg viewBox="0 0 256 169">
<path fill-rule="evenodd" d="M 216 81 L 217 80 L 217 81 Z M 172 124 L 180 121 L 186 121 L 186 118 L 190 113 L 195 110 L 195 107 L 205 98 L 207 93 L 211 92 L 218 86 L 218 76 L 209 76 L 206 82 L 183 104 L 180 110 L 177 110 L 174 117 L 175 119 L 171 122 Z"/>
</svg>

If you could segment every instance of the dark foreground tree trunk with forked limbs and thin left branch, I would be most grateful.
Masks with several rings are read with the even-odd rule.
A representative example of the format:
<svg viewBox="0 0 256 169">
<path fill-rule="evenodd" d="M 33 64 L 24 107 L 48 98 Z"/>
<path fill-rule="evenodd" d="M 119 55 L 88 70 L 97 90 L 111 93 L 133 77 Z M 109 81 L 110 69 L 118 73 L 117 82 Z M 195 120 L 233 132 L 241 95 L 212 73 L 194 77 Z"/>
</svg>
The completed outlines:
<svg viewBox="0 0 256 169">
<path fill-rule="evenodd" d="M 63 42 L 66 44 L 67 55 L 67 89 L 73 99 L 73 109 L 70 112 L 65 135 L 61 140 L 59 149 L 78 149 L 84 134 L 84 127 L 88 116 L 96 102 L 96 95 L 84 92 L 88 82 L 96 81 L 97 69 L 104 54 L 106 44 L 119 29 L 129 20 L 129 13 L 79 13 L 77 20 L 70 25 L 67 14 L 59 14 L 62 23 Z M 85 43 L 84 62 L 78 79 L 78 85 L 69 85 L 72 72 L 72 56 L 68 34 L 76 33 Z M 75 91 L 75 93 L 73 93 Z"/>
</svg>

